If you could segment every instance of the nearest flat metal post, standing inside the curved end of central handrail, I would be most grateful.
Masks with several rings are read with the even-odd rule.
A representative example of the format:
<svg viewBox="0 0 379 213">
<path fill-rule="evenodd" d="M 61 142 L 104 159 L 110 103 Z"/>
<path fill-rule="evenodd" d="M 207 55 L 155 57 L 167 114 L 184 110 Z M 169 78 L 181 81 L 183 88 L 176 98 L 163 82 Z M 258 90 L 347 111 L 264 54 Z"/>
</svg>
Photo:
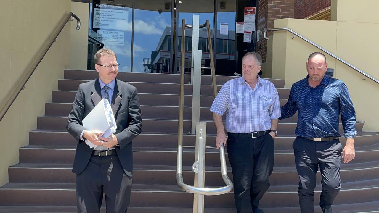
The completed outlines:
<svg viewBox="0 0 379 213">
<path fill-rule="evenodd" d="M 205 186 L 205 144 L 207 135 L 207 122 L 196 122 L 196 150 L 195 161 L 199 162 L 198 172 L 195 174 L 194 186 Z M 194 194 L 193 212 L 204 213 L 204 195 Z"/>
</svg>

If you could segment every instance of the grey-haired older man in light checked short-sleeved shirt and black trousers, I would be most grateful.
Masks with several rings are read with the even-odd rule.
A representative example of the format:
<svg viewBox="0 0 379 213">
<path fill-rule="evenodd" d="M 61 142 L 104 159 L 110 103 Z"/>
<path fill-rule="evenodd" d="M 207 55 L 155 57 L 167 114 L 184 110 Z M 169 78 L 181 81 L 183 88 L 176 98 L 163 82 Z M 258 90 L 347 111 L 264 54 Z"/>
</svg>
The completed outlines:
<svg viewBox="0 0 379 213">
<path fill-rule="evenodd" d="M 242 58 L 242 77 L 226 82 L 210 111 L 217 128 L 216 146 L 227 142 L 238 213 L 262 213 L 259 200 L 268 190 L 274 167 L 274 139 L 280 117 L 278 92 L 257 74 L 261 56 Z M 222 115 L 226 112 L 226 139 Z"/>
</svg>

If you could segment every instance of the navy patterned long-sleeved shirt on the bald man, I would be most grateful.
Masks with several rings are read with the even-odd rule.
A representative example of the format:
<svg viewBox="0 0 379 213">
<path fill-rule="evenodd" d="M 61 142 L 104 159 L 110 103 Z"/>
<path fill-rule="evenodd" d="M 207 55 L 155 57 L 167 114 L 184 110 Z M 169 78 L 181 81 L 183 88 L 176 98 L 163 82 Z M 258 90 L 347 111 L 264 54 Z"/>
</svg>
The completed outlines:
<svg viewBox="0 0 379 213">
<path fill-rule="evenodd" d="M 340 137 L 341 114 L 345 138 L 354 138 L 357 135 L 356 113 L 345 83 L 325 75 L 313 88 L 309 86 L 308 77 L 292 85 L 288 102 L 280 109 L 279 120 L 298 111 L 296 135 L 305 138 Z"/>
</svg>

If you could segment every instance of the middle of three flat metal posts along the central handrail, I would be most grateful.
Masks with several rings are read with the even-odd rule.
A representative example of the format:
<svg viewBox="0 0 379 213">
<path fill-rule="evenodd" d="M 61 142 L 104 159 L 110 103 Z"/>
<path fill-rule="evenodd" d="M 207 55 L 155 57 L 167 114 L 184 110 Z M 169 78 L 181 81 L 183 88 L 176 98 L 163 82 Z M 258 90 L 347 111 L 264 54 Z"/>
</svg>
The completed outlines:
<svg viewBox="0 0 379 213">
<path fill-rule="evenodd" d="M 201 50 L 194 50 L 193 85 L 192 85 L 192 120 L 191 133 L 196 132 L 196 122 L 200 121 L 200 88 L 201 88 Z"/>
</svg>

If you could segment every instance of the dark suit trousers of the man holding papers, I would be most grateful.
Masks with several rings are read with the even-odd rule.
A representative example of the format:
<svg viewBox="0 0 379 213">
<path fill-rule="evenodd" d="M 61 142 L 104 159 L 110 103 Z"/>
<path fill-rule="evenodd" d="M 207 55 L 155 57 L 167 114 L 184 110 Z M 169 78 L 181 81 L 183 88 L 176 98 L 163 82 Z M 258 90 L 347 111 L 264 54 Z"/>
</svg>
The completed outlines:
<svg viewBox="0 0 379 213">
<path fill-rule="evenodd" d="M 76 176 L 78 213 L 100 213 L 105 194 L 107 213 L 125 213 L 130 203 L 132 177 L 125 174 L 117 155 L 92 155 Z"/>
</svg>

